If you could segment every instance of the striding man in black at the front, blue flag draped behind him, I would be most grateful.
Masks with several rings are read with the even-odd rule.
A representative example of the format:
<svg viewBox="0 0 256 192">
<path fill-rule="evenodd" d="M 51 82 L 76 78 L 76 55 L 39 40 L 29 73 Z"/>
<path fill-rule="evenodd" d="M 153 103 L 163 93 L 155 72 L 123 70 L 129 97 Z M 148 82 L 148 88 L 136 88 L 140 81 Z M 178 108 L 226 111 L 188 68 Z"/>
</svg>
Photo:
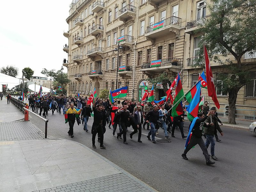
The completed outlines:
<svg viewBox="0 0 256 192">
<path fill-rule="evenodd" d="M 192 131 L 191 131 L 192 136 L 191 136 L 191 138 L 189 140 L 189 143 L 188 143 L 187 147 L 185 148 L 183 154 L 181 155 L 183 159 L 188 160 L 186 154 L 188 153 L 188 151 L 192 147 L 194 147 L 196 144 L 198 144 L 199 147 L 203 151 L 203 154 L 204 154 L 204 157 L 205 157 L 205 160 L 206 160 L 206 164 L 207 165 L 212 165 L 212 164 L 215 163 L 215 162 L 210 161 L 210 156 L 209 156 L 207 148 L 206 148 L 206 146 L 204 144 L 204 140 L 202 139 L 202 136 L 203 136 L 202 132 L 203 132 L 203 130 L 202 130 L 202 127 L 200 127 L 200 124 L 203 123 L 207 119 L 207 117 L 210 116 L 211 114 L 212 114 L 212 112 L 209 112 L 206 116 L 204 116 L 203 113 L 198 113 L 197 116 L 199 118 L 196 119 L 194 127 L 191 128 L 192 129 Z"/>
</svg>

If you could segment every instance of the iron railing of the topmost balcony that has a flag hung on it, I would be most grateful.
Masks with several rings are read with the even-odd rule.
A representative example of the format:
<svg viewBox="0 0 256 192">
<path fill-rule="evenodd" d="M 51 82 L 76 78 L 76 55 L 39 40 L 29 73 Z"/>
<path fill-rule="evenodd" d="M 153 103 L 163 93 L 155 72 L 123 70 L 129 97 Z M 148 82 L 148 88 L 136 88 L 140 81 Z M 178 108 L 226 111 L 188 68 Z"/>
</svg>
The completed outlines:
<svg viewBox="0 0 256 192">
<path fill-rule="evenodd" d="M 163 23 L 162 23 L 163 22 Z M 155 23 L 155 24 L 152 24 L 150 26 L 147 27 L 145 33 L 150 33 L 152 31 L 155 31 L 159 28 L 163 28 L 163 27 L 166 27 L 168 25 L 177 25 L 177 26 L 181 26 L 181 18 L 179 17 L 175 17 L 175 16 L 172 16 L 172 17 L 169 17 L 165 20 L 162 20 L 158 23 Z M 155 28 L 154 28 L 155 27 Z"/>
</svg>

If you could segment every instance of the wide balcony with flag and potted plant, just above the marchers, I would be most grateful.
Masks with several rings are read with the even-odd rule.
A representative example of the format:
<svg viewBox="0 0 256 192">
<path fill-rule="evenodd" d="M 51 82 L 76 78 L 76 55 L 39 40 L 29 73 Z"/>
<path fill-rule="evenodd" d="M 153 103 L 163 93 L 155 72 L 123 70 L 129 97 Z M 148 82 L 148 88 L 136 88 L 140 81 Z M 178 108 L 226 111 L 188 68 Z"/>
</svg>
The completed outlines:
<svg viewBox="0 0 256 192">
<path fill-rule="evenodd" d="M 173 71 L 180 70 L 181 59 L 170 57 L 166 59 L 143 62 L 140 70 L 142 72 L 163 72 L 166 69 L 171 69 Z"/>
</svg>

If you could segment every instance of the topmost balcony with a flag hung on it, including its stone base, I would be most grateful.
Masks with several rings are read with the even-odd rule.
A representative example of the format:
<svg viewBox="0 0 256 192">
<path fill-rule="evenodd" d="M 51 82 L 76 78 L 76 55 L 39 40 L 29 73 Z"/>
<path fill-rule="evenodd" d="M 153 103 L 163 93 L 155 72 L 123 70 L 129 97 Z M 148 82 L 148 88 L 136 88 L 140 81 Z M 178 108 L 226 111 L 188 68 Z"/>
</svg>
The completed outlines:
<svg viewBox="0 0 256 192">
<path fill-rule="evenodd" d="M 181 18 L 172 16 L 158 23 L 148 26 L 144 36 L 148 40 L 151 40 L 162 36 L 166 36 L 170 33 L 180 35 L 180 28 Z"/>
</svg>

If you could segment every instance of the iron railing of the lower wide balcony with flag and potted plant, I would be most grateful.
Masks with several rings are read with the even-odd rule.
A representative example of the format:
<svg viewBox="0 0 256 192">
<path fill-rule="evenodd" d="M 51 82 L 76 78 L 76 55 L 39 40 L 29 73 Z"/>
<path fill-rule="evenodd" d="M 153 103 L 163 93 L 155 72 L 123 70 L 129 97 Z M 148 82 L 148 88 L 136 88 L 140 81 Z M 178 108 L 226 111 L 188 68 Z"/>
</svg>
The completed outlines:
<svg viewBox="0 0 256 192">
<path fill-rule="evenodd" d="M 152 65 L 152 64 L 154 64 L 154 61 L 158 61 L 158 60 L 143 62 L 141 68 L 142 69 L 152 68 L 154 66 L 154 65 Z M 181 59 L 175 58 L 175 57 L 160 59 L 159 62 L 160 62 L 160 66 L 158 66 L 158 67 L 163 67 L 163 66 L 168 66 L 168 65 L 181 66 Z"/>
</svg>

